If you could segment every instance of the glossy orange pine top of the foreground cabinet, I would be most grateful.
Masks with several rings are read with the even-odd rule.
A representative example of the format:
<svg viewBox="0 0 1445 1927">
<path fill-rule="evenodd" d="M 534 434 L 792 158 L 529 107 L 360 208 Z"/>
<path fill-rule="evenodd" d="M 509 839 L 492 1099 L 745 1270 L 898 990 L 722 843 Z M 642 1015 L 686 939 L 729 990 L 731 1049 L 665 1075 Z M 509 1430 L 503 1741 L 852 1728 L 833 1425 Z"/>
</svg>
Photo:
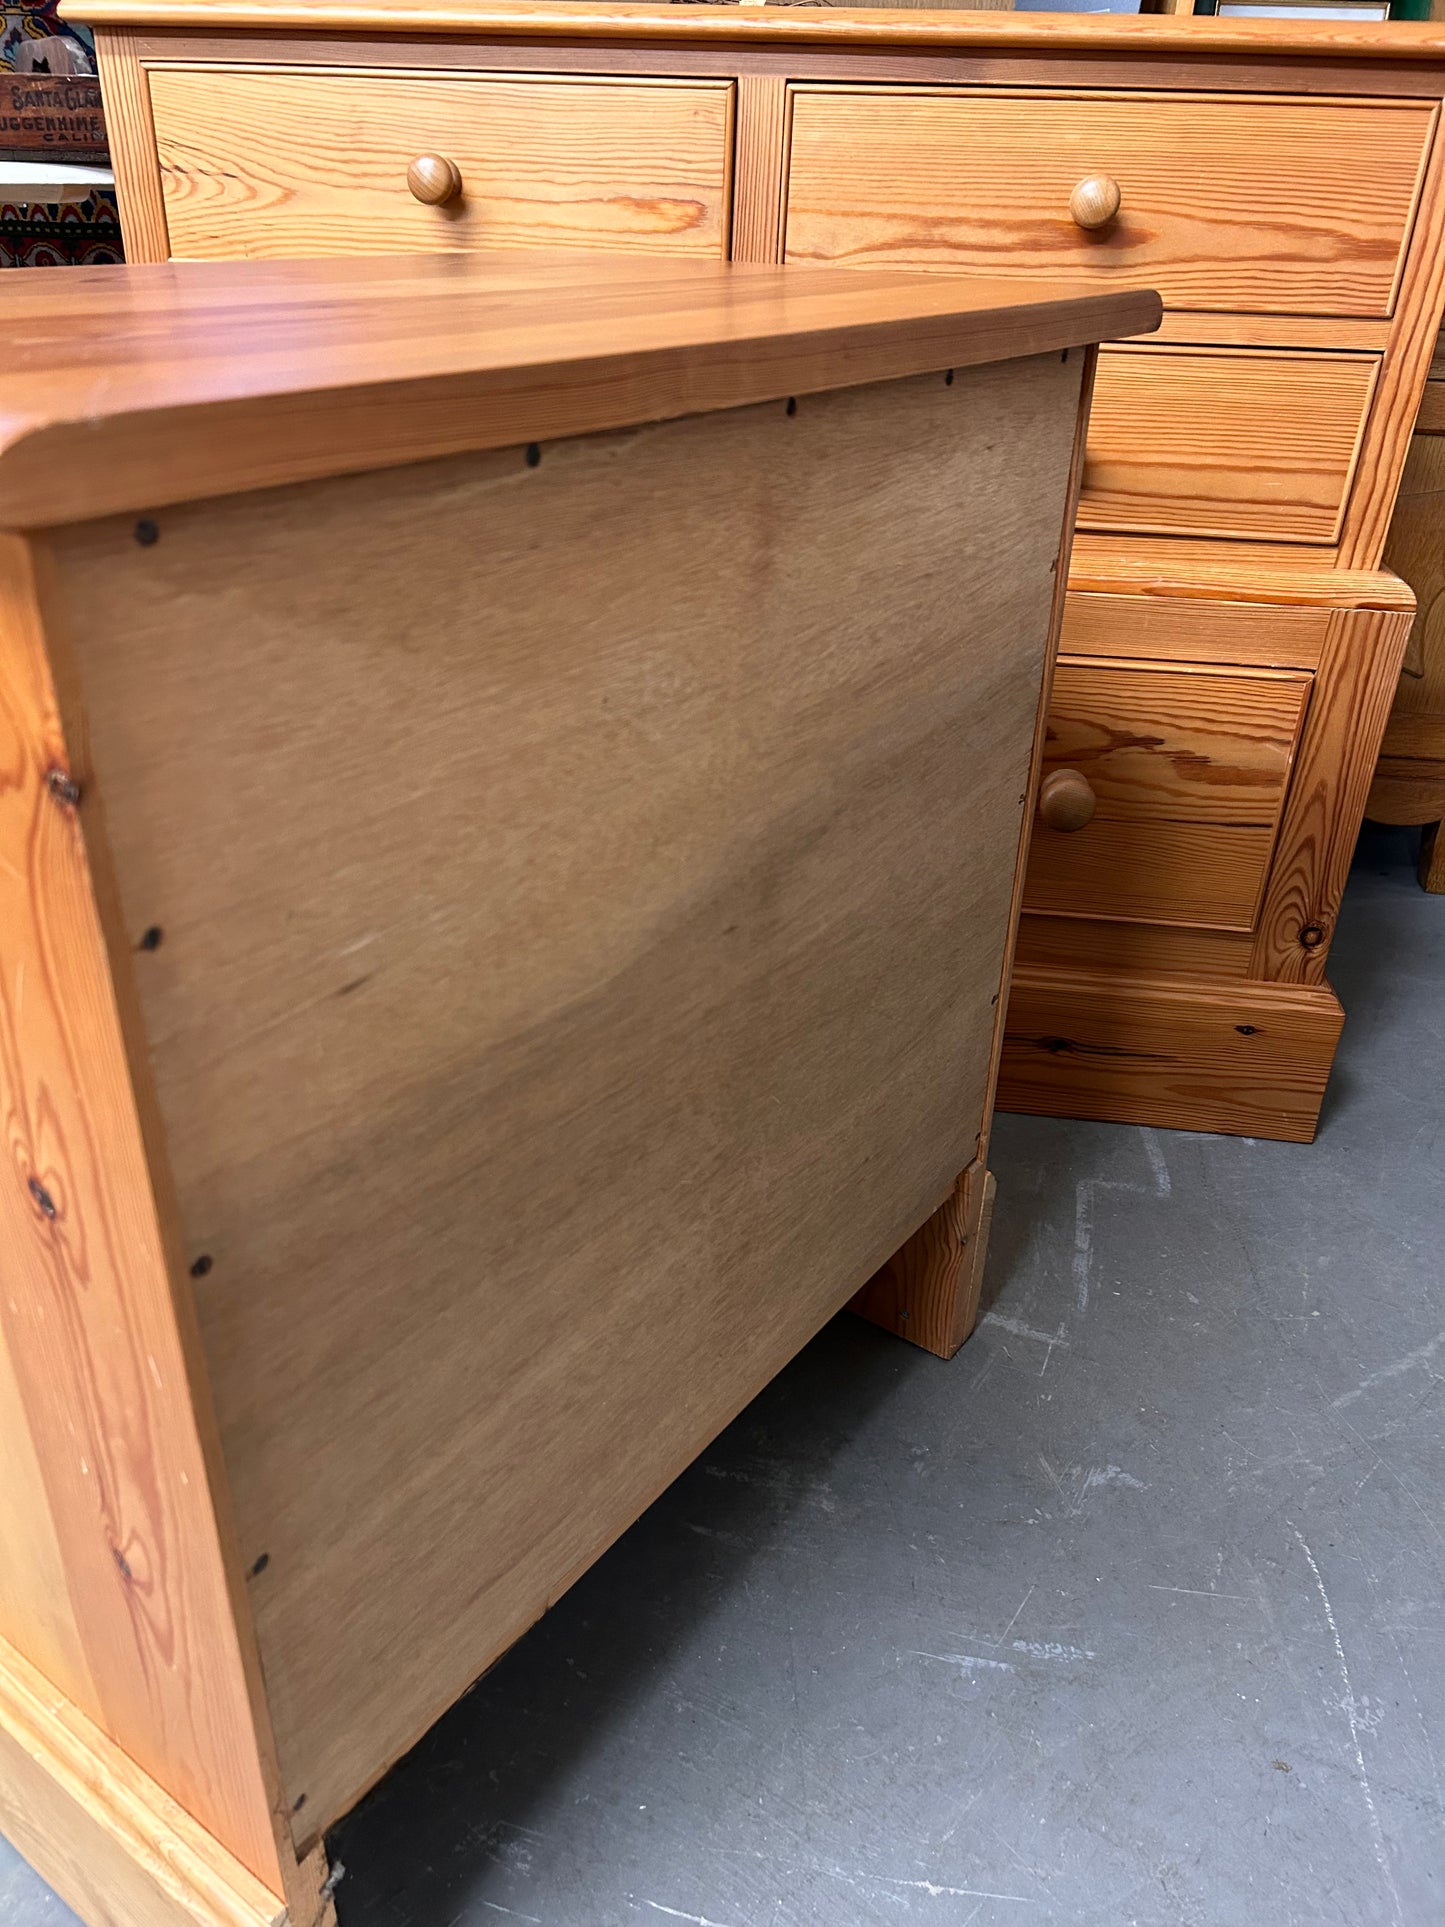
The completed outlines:
<svg viewBox="0 0 1445 1927">
<path fill-rule="evenodd" d="M 595 254 L 21 268 L 0 281 L 0 526 L 1012 360 L 1158 320 L 1148 291 Z"/>
</svg>

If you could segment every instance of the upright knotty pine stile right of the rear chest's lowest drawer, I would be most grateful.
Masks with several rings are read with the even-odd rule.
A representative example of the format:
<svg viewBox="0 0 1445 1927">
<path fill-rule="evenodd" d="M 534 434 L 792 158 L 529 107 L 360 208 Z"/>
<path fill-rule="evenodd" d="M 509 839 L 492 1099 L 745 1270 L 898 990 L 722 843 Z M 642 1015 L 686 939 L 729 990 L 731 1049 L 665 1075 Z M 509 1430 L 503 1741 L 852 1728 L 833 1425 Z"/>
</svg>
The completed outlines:
<svg viewBox="0 0 1445 1927">
<path fill-rule="evenodd" d="M 1260 910 L 1256 977 L 1324 983 L 1408 632 L 1408 615 L 1356 609 L 1331 619 Z"/>
</svg>

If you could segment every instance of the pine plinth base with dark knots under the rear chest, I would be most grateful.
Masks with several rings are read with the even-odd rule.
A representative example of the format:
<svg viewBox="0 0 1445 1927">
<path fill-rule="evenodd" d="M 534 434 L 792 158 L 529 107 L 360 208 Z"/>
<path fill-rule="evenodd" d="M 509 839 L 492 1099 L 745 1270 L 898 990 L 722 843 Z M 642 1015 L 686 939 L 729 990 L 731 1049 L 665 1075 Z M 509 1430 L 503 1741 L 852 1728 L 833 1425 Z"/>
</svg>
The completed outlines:
<svg viewBox="0 0 1445 1927">
<path fill-rule="evenodd" d="M 1308 1143 L 1343 1021 L 1327 985 L 1019 969 L 998 1108 Z"/>
</svg>

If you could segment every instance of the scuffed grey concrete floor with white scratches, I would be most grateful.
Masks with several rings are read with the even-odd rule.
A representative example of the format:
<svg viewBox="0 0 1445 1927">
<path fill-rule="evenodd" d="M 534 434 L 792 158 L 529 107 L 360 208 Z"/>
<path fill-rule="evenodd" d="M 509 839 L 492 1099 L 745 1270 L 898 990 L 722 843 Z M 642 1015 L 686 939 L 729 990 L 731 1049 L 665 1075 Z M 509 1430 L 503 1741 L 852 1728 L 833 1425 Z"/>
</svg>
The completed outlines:
<svg viewBox="0 0 1445 1927">
<path fill-rule="evenodd" d="M 333 1836 L 341 1927 L 1445 1921 L 1445 898 L 1314 1147 L 1002 1118 L 998 1301 L 840 1318 Z M 2 1850 L 0 1850 L 2 1852 Z M 69 1921 L 0 1858 L 0 1921 Z"/>
</svg>

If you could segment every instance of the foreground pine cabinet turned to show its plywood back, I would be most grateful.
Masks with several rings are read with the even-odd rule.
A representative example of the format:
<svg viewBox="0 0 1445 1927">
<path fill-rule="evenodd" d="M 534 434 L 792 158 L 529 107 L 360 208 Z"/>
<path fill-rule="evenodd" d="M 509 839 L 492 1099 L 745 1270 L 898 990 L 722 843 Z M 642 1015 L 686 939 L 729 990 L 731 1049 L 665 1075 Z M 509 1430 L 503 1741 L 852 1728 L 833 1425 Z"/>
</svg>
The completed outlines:
<svg viewBox="0 0 1445 1927">
<path fill-rule="evenodd" d="M 94 1927 L 328 1919 L 828 1316 L 965 1335 L 1089 343 L 1158 314 L 0 283 L 0 1823 Z"/>
</svg>

